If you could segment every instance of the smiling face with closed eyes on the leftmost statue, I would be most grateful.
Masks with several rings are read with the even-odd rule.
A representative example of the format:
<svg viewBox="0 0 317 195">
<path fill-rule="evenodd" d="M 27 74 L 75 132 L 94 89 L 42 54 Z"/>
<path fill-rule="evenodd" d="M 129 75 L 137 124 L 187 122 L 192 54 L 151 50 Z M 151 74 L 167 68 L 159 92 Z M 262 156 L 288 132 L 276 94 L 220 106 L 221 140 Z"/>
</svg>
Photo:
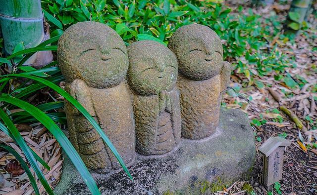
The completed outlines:
<svg viewBox="0 0 317 195">
<path fill-rule="evenodd" d="M 125 45 L 94 38 L 78 48 L 77 71 L 81 76 L 96 84 L 122 80 L 128 67 Z M 87 68 L 86 68 L 87 67 Z"/>
</svg>

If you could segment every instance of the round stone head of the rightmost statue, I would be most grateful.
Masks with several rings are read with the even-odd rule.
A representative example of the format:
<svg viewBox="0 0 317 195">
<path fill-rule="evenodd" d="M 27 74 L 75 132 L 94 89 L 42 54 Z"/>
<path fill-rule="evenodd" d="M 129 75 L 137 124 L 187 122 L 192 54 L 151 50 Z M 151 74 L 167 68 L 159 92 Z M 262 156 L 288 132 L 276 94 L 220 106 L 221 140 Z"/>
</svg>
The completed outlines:
<svg viewBox="0 0 317 195">
<path fill-rule="evenodd" d="M 223 61 L 221 40 L 207 26 L 182 26 L 170 38 L 168 48 L 177 56 L 179 72 L 187 78 L 204 80 L 220 72 Z"/>
</svg>

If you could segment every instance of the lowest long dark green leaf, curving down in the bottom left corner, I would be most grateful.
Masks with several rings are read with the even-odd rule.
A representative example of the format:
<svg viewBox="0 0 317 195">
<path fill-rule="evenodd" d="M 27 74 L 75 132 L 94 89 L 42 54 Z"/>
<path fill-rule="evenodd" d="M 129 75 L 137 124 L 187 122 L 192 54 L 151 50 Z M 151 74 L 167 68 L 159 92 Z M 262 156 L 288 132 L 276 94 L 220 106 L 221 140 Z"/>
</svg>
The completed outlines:
<svg viewBox="0 0 317 195">
<path fill-rule="evenodd" d="M 3 148 L 4 150 L 8 151 L 9 153 L 11 153 L 21 164 L 22 168 L 25 170 L 26 174 L 28 175 L 29 177 L 29 180 L 32 184 L 32 187 L 34 189 L 34 192 L 36 195 L 40 195 L 40 192 L 39 192 L 39 189 L 38 189 L 38 186 L 36 184 L 36 181 L 28 167 L 28 165 L 24 162 L 23 158 L 17 153 L 15 152 L 15 150 L 9 146 L 6 146 L 4 144 L 0 144 L 0 148 Z"/>
</svg>

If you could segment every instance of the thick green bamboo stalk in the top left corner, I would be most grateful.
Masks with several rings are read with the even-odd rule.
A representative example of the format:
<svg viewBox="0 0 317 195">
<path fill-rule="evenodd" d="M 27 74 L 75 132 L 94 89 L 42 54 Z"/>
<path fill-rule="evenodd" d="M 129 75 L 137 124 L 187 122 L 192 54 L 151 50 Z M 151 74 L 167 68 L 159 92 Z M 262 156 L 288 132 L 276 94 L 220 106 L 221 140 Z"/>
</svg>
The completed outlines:
<svg viewBox="0 0 317 195">
<path fill-rule="evenodd" d="M 35 47 L 44 38 L 41 0 L 0 0 L 0 25 L 7 54 L 23 42 Z"/>
</svg>

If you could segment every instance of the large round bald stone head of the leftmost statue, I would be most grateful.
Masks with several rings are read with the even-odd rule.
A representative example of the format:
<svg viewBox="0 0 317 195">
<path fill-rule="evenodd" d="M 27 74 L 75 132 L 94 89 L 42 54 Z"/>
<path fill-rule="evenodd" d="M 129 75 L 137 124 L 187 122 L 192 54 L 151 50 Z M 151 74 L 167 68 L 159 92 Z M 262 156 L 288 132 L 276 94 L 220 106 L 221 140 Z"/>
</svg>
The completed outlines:
<svg viewBox="0 0 317 195">
<path fill-rule="evenodd" d="M 57 59 L 67 82 L 80 78 L 96 88 L 120 83 L 129 64 L 123 40 L 98 22 L 70 26 L 58 41 Z"/>
</svg>

